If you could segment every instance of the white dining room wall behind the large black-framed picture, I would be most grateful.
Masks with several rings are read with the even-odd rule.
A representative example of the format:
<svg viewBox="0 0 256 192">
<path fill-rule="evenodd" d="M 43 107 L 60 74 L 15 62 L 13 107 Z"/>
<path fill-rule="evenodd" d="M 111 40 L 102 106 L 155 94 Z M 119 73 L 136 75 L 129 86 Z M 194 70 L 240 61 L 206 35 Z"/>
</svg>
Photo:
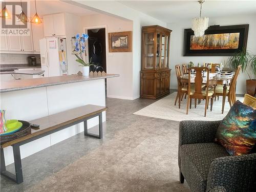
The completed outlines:
<svg viewBox="0 0 256 192">
<path fill-rule="evenodd" d="M 241 25 L 249 24 L 249 34 L 247 41 L 247 50 L 251 51 L 253 54 L 256 54 L 256 15 L 237 15 L 232 17 L 216 17 L 209 18 L 209 26 L 211 25 Z M 178 20 L 177 23 L 169 23 L 169 29 L 172 29 L 170 39 L 170 69 L 171 71 L 171 80 L 170 88 L 177 89 L 177 78 L 175 74 L 175 65 L 188 63 L 193 61 L 194 63 L 204 63 L 204 62 L 222 62 L 227 60 L 228 56 L 183 56 L 183 38 L 184 38 L 184 29 L 191 28 L 191 19 L 189 20 Z M 246 79 L 248 75 L 246 73 L 240 73 L 237 82 L 237 93 L 244 94 L 246 93 Z"/>
</svg>

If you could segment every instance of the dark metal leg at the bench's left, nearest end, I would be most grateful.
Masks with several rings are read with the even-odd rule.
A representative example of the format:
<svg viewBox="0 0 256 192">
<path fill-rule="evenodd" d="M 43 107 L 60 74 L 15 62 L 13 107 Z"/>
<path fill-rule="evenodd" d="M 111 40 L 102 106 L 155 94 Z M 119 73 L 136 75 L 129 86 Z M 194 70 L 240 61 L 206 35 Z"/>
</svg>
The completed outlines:
<svg viewBox="0 0 256 192">
<path fill-rule="evenodd" d="M 20 159 L 19 145 L 14 144 L 12 146 L 12 150 L 13 150 L 13 156 L 14 156 L 15 175 L 8 172 L 8 170 L 6 170 L 3 148 L 1 148 L 1 175 L 16 182 L 17 184 L 20 184 L 23 182 L 23 174 L 22 174 L 22 160 Z"/>
</svg>

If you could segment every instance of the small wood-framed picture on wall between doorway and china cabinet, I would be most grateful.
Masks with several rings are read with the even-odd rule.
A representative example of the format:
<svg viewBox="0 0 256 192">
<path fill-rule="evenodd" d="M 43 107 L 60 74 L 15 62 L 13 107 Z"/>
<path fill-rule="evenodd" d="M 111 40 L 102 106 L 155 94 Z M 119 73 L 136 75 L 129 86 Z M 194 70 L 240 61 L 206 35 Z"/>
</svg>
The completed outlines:
<svg viewBox="0 0 256 192">
<path fill-rule="evenodd" d="M 132 52 L 132 31 L 109 33 L 109 52 Z"/>
</svg>

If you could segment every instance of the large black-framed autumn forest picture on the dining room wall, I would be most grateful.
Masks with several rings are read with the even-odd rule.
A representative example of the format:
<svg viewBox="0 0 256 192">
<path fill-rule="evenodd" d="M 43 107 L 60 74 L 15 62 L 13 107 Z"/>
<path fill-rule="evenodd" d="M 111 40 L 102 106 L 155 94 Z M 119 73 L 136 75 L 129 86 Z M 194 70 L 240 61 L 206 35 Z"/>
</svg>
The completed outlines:
<svg viewBox="0 0 256 192">
<path fill-rule="evenodd" d="M 184 56 L 230 56 L 246 49 L 249 24 L 210 26 L 202 37 L 184 30 Z"/>
</svg>

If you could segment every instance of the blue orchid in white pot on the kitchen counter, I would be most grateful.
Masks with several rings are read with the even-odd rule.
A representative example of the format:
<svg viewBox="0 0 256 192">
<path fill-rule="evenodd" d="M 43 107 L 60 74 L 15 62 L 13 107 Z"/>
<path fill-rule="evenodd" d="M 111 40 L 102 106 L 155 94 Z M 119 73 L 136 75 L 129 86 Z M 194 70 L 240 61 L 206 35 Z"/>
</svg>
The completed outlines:
<svg viewBox="0 0 256 192">
<path fill-rule="evenodd" d="M 75 56 L 77 57 L 76 61 L 79 62 L 82 66 L 82 75 L 89 76 L 90 66 L 97 66 L 96 63 L 92 62 L 92 58 L 90 62 L 86 62 L 86 40 L 88 39 L 88 34 L 82 33 L 81 35 L 78 33 L 76 35 L 75 41 Z"/>
</svg>

